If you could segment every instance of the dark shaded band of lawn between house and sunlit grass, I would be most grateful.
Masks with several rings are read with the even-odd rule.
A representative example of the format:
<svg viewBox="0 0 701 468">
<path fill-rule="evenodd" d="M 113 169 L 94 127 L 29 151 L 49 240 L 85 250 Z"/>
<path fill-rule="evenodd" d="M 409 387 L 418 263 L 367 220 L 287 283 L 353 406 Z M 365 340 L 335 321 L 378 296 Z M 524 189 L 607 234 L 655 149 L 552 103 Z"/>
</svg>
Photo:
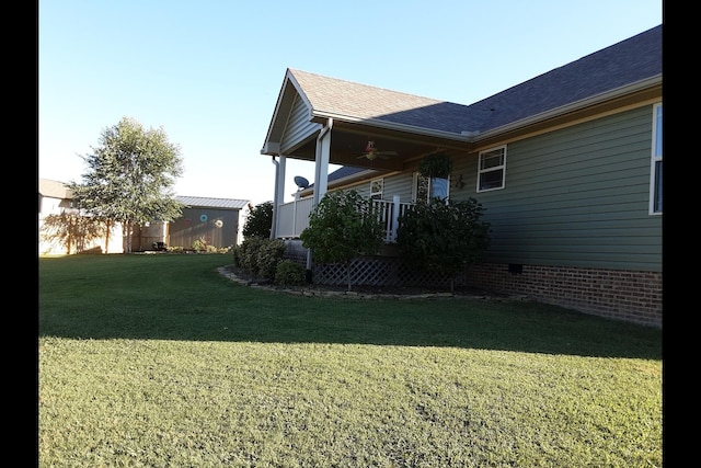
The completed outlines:
<svg viewBox="0 0 701 468">
<path fill-rule="evenodd" d="M 158 276 L 125 266 L 126 283 L 106 282 L 100 269 L 45 276 L 39 336 L 452 346 L 662 359 L 662 330 L 555 306 L 300 297 L 232 283 L 207 263 L 193 271 L 159 262 Z"/>
</svg>

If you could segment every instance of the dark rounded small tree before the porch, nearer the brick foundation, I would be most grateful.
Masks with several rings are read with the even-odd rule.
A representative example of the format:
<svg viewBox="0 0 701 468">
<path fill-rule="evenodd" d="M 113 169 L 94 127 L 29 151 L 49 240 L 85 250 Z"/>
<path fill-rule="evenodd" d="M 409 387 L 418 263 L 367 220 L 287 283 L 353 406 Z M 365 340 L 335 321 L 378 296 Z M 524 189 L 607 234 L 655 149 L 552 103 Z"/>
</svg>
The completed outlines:
<svg viewBox="0 0 701 468">
<path fill-rule="evenodd" d="M 422 270 L 455 277 L 478 262 L 490 246 L 490 224 L 481 221 L 482 205 L 474 198 L 446 203 L 432 198 L 400 217 L 397 244 L 404 261 Z"/>
</svg>

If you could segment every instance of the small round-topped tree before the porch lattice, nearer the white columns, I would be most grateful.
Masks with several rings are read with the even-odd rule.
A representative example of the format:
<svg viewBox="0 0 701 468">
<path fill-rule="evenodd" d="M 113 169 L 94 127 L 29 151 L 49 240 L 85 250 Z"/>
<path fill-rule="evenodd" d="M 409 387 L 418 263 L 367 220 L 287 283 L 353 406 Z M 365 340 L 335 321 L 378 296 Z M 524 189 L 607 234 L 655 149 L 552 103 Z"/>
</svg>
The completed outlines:
<svg viewBox="0 0 701 468">
<path fill-rule="evenodd" d="M 350 290 L 350 262 L 382 247 L 382 225 L 370 199 L 356 191 L 331 192 L 309 216 L 299 238 L 320 263 L 343 263 Z"/>
</svg>

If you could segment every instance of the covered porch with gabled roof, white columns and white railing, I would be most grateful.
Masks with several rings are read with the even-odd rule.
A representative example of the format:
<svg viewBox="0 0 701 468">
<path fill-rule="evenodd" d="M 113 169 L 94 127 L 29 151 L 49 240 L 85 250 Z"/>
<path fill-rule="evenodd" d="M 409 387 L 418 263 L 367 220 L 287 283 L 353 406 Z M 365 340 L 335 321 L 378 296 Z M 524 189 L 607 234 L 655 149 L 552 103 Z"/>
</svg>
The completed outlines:
<svg viewBox="0 0 701 468">
<path fill-rule="evenodd" d="M 309 215 L 332 189 L 329 167 L 375 171 L 375 176 L 412 171 L 426 155 L 464 152 L 473 146 L 464 106 L 288 69 L 262 155 L 275 164 L 272 238 L 297 238 Z M 314 162 L 313 191 L 285 201 L 288 159 Z M 397 220 L 411 206 L 393 196 L 375 202 L 386 229 L 397 238 Z"/>
</svg>

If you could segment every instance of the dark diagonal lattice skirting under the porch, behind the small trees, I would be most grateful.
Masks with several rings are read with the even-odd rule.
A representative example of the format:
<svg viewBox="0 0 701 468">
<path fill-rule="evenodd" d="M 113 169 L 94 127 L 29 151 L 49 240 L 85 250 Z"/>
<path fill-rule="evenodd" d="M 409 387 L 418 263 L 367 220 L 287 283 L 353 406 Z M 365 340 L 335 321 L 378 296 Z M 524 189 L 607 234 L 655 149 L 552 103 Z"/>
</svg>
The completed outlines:
<svg viewBox="0 0 701 468">
<path fill-rule="evenodd" d="M 345 285 L 346 266 L 343 264 L 314 265 L 312 283 Z M 450 278 L 429 272 L 420 272 L 394 258 L 360 258 L 350 263 L 350 284 L 357 286 L 432 286 L 448 287 Z M 456 278 L 455 286 L 463 286 L 464 276 Z"/>
</svg>

